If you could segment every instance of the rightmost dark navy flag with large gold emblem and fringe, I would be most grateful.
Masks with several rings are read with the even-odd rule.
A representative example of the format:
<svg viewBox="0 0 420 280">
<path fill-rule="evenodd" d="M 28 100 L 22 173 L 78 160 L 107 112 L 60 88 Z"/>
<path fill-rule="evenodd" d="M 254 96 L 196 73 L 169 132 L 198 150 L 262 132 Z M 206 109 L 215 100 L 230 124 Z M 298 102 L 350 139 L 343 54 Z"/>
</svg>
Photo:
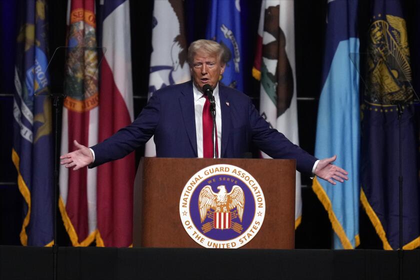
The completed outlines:
<svg viewBox="0 0 420 280">
<path fill-rule="evenodd" d="M 399 1 L 375 0 L 368 29 L 362 102 L 360 199 L 384 249 L 399 248 L 397 101 L 414 99 L 405 19 Z M 403 248 L 420 245 L 420 190 L 413 105 L 402 114 Z"/>
</svg>

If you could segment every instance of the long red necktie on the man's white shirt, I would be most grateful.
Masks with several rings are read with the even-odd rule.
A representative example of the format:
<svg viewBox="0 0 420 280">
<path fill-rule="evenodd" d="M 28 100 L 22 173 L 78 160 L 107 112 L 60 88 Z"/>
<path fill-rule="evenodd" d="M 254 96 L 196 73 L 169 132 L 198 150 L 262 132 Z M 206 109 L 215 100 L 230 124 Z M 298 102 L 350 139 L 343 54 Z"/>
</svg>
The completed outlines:
<svg viewBox="0 0 420 280">
<path fill-rule="evenodd" d="M 205 96 L 205 103 L 202 108 L 202 156 L 213 157 L 213 141 L 211 140 L 211 130 L 213 129 L 213 119 L 210 113 L 210 101 Z M 216 157 L 218 157 L 218 145 L 217 145 L 217 128 L 215 127 L 215 138 L 216 138 Z"/>
</svg>

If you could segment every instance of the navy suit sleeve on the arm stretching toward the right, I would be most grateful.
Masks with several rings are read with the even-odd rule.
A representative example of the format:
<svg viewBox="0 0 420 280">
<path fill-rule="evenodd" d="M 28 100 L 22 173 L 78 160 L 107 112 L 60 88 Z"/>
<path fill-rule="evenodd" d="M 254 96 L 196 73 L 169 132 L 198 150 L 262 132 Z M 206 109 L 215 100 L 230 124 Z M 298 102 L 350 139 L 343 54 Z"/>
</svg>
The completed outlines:
<svg viewBox="0 0 420 280">
<path fill-rule="evenodd" d="M 311 173 L 316 157 L 310 155 L 299 146 L 290 142 L 283 133 L 270 128 L 255 106 L 249 99 L 249 123 L 251 126 L 252 141 L 257 147 L 272 158 L 294 158 L 296 169 L 300 172 Z"/>
</svg>

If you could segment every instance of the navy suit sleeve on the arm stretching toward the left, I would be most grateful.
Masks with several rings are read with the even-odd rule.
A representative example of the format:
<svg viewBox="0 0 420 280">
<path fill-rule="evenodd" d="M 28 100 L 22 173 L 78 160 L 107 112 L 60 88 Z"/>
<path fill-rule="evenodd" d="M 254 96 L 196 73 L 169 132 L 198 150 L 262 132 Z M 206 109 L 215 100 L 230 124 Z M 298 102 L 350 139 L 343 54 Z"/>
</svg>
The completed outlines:
<svg viewBox="0 0 420 280">
<path fill-rule="evenodd" d="M 158 94 L 153 94 L 131 124 L 119 129 L 103 142 L 91 146 L 95 153 L 95 161 L 89 165 L 89 168 L 122 158 L 144 145 L 153 135 L 159 123 L 159 110 Z"/>
</svg>

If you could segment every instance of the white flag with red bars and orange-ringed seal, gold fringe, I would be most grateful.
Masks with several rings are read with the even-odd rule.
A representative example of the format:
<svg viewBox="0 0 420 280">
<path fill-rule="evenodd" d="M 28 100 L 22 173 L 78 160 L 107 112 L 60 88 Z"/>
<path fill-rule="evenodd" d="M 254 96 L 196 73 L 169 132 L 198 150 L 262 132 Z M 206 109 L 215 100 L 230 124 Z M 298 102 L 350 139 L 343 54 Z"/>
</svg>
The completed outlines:
<svg viewBox="0 0 420 280">
<path fill-rule="evenodd" d="M 94 0 L 69 2 L 69 26 L 62 113 L 61 154 L 97 143 L 97 53 Z M 96 170 L 60 168 L 60 211 L 74 246 L 96 234 Z"/>
</svg>

